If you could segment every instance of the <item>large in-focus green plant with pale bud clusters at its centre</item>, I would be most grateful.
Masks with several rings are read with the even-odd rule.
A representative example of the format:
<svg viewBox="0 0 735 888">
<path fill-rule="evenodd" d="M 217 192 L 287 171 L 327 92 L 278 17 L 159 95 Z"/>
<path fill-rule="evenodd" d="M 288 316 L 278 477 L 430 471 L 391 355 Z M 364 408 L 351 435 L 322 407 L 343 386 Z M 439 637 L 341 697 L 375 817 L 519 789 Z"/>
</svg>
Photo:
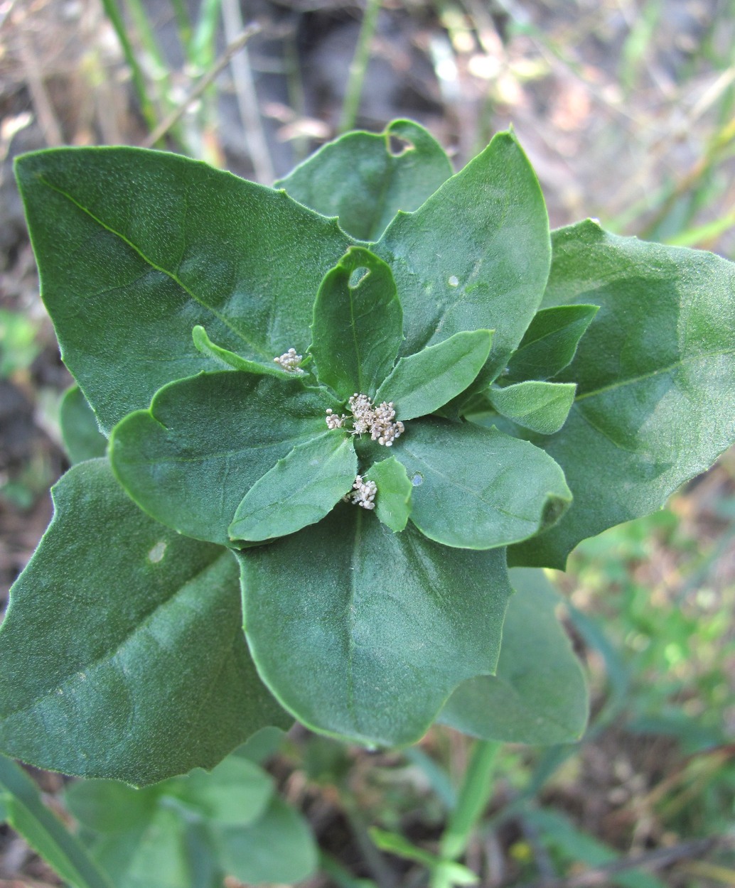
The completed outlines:
<svg viewBox="0 0 735 888">
<path fill-rule="evenodd" d="M 276 190 L 134 148 L 17 173 L 109 444 L 12 592 L 2 748 L 141 786 L 292 718 L 370 746 L 436 718 L 579 737 L 553 594 L 507 564 L 563 568 L 735 438 L 735 266 L 549 234 L 512 133 L 454 176 L 407 121 Z"/>
</svg>

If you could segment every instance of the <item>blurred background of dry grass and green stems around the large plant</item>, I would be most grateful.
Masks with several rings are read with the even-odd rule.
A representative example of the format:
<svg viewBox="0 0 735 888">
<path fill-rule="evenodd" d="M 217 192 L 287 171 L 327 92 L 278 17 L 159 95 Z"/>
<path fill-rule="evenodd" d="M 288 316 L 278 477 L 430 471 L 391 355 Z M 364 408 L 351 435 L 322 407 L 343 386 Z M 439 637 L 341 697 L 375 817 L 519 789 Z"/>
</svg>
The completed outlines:
<svg viewBox="0 0 735 888">
<path fill-rule="evenodd" d="M 48 519 L 68 385 L 9 172 L 22 150 L 166 147 L 269 183 L 353 123 L 414 117 L 457 168 L 513 123 L 554 225 L 592 215 L 735 258 L 727 0 L 4 0 L 0 36 L 5 585 Z M 436 728 L 369 753 L 293 731 L 269 770 L 319 841 L 310 886 L 735 885 L 732 453 L 554 580 L 592 688 L 585 739 Z M 36 779 L 58 808 L 63 781 Z M 6 828 L 3 878 L 60 884 Z"/>
</svg>

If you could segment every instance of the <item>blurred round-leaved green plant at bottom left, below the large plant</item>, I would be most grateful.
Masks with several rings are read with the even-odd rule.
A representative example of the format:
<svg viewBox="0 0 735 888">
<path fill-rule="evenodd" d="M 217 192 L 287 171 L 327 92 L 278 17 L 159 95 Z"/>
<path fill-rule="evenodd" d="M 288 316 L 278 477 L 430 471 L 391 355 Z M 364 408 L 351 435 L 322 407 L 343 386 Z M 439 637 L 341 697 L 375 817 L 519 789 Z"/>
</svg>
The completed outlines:
<svg viewBox="0 0 735 888">
<path fill-rule="evenodd" d="M 279 741 L 268 738 L 267 751 Z M 258 750 L 248 746 L 210 773 L 196 769 L 145 789 L 106 780 L 71 784 L 68 810 L 116 888 L 213 886 L 226 875 L 292 884 L 313 872 L 316 846 L 306 821 L 278 796 L 253 760 Z"/>
</svg>

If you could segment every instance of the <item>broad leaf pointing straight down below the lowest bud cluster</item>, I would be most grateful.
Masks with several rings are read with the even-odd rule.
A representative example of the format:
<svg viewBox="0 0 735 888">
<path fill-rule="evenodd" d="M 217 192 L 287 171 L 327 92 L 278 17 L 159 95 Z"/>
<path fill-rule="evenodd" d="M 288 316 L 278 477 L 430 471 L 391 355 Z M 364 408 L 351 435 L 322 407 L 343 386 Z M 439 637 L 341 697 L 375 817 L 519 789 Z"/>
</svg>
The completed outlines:
<svg viewBox="0 0 735 888">
<path fill-rule="evenodd" d="M 510 594 L 502 551 L 446 549 L 410 526 L 394 534 L 340 503 L 238 558 L 260 675 L 317 731 L 411 743 L 455 686 L 495 668 Z"/>
</svg>

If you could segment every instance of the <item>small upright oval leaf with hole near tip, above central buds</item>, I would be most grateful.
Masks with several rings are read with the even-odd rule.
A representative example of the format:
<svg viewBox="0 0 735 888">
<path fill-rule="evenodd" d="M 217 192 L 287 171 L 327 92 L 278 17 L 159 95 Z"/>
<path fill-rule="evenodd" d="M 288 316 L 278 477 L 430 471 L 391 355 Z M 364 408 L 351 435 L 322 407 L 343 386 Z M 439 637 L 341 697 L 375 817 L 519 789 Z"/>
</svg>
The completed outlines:
<svg viewBox="0 0 735 888">
<path fill-rule="evenodd" d="M 345 399 L 372 395 L 403 340 L 401 303 L 385 262 L 363 247 L 348 250 L 322 281 L 311 330 L 319 382 Z"/>
</svg>

